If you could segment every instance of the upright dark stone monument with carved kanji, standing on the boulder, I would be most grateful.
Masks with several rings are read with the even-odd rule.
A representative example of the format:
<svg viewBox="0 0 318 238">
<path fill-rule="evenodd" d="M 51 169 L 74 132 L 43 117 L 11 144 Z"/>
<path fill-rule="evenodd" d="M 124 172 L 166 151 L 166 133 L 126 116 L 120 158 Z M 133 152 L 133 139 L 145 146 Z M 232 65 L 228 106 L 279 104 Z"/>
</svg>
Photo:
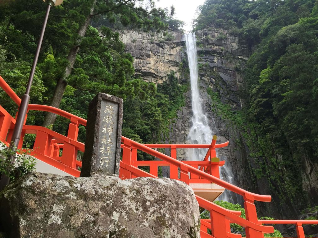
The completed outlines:
<svg viewBox="0 0 318 238">
<path fill-rule="evenodd" d="M 122 104 L 121 98 L 104 93 L 90 102 L 80 176 L 119 174 Z"/>
</svg>

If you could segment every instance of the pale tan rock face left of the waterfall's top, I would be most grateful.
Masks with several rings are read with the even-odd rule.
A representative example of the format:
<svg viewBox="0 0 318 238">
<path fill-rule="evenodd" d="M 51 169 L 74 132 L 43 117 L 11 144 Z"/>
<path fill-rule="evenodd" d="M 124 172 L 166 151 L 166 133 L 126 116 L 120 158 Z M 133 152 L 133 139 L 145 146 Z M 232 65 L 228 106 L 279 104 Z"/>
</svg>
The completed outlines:
<svg viewBox="0 0 318 238">
<path fill-rule="evenodd" d="M 120 32 L 121 40 L 126 45 L 126 51 L 135 58 L 136 76 L 152 83 L 162 83 L 167 80 L 171 70 L 179 77 L 179 65 L 183 56 L 184 42 L 178 32 L 162 33 L 138 32 L 125 30 Z"/>
</svg>

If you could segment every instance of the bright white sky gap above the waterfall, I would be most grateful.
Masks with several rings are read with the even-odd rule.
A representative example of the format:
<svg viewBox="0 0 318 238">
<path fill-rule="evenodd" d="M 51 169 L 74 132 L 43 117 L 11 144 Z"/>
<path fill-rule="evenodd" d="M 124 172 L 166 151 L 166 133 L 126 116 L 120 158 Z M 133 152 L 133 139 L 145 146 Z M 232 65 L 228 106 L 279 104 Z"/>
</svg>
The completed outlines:
<svg viewBox="0 0 318 238">
<path fill-rule="evenodd" d="M 192 21 L 195 17 L 197 7 L 204 3 L 204 0 L 155 0 L 156 6 L 170 10 L 173 5 L 176 9 L 175 18 L 185 22 L 183 29 L 192 30 Z"/>
</svg>

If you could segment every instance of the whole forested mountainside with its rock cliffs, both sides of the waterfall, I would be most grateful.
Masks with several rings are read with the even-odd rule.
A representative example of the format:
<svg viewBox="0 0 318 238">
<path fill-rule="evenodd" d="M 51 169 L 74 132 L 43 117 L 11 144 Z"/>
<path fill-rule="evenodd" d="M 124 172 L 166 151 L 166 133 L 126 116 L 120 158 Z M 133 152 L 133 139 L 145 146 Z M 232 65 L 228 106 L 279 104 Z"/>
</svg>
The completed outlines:
<svg viewBox="0 0 318 238">
<path fill-rule="evenodd" d="M 185 143 L 189 72 L 182 34 L 171 32 L 182 22 L 173 8 L 138 2 L 64 0 L 52 8 L 31 103 L 86 118 L 97 92 L 112 94 L 124 99 L 124 136 Z M 0 0 L 0 75 L 19 96 L 44 13 L 42 1 Z M 194 25 L 204 108 L 220 141 L 230 140 L 220 154 L 237 185 L 273 196 L 261 208 L 275 218 L 297 218 L 318 204 L 317 20 L 313 0 L 207 0 Z M 15 115 L 3 91 L 0 102 Z M 68 126 L 33 111 L 27 123 L 61 134 Z"/>
</svg>

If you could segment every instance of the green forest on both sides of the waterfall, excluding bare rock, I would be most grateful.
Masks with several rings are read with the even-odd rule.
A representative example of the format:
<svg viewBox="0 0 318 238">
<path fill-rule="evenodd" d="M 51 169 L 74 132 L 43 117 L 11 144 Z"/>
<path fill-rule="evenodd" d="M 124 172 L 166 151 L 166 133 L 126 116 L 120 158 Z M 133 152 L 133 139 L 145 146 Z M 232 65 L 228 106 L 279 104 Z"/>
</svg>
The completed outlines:
<svg viewBox="0 0 318 238">
<path fill-rule="evenodd" d="M 187 85 L 179 85 L 173 71 L 158 86 L 135 77 L 133 57 L 125 53 L 116 30 L 166 34 L 182 22 L 174 19 L 173 8 L 157 9 L 151 1 L 138 7 L 140 2 L 64 0 L 53 7 L 31 103 L 86 118 L 97 92 L 119 96 L 124 99 L 122 134 L 138 142 L 160 142 L 183 106 Z M 25 91 L 44 13 L 42 1 L 0 0 L 0 75 L 19 96 Z M 318 204 L 317 186 L 308 189 L 311 194 L 303 192 L 300 172 L 318 162 L 318 2 L 207 0 L 198 13 L 194 30 L 223 28 L 252 52 L 239 92 L 244 107 L 229 115 L 245 136 L 249 156 L 259 164 L 257 178 L 265 177 L 295 215 L 293 204 L 297 209 Z M 0 101 L 15 115 L 17 106 L 1 90 Z M 68 126 L 65 118 L 33 111 L 27 123 L 61 134 Z M 79 140 L 85 140 L 84 127 Z"/>
</svg>

